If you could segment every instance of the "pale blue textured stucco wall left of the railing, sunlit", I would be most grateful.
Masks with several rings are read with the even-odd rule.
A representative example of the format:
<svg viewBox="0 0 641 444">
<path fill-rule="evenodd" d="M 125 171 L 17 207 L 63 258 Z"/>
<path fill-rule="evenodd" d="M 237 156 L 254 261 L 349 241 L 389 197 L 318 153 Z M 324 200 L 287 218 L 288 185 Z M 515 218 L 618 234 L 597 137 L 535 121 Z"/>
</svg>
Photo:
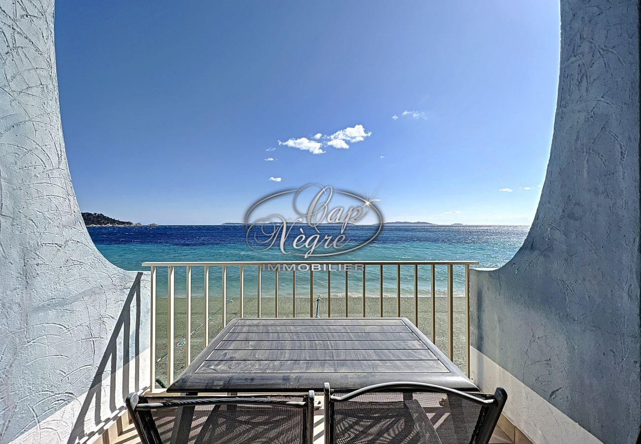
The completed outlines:
<svg viewBox="0 0 641 444">
<path fill-rule="evenodd" d="M 86 439 L 148 379 L 148 277 L 97 252 L 72 189 L 53 10 L 0 0 L 0 443 Z"/>
</svg>

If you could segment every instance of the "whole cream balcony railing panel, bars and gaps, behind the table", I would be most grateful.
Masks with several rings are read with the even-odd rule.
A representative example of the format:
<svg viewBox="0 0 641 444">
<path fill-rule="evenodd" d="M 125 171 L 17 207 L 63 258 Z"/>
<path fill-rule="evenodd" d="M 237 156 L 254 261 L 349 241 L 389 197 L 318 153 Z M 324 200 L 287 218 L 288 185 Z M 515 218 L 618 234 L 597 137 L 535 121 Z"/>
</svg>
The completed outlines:
<svg viewBox="0 0 641 444">
<path fill-rule="evenodd" d="M 144 262 L 151 268 L 151 387 L 169 386 L 237 316 L 404 316 L 469 375 L 469 268 L 474 264 L 478 262 Z M 159 286 L 164 277 L 167 286 Z"/>
</svg>

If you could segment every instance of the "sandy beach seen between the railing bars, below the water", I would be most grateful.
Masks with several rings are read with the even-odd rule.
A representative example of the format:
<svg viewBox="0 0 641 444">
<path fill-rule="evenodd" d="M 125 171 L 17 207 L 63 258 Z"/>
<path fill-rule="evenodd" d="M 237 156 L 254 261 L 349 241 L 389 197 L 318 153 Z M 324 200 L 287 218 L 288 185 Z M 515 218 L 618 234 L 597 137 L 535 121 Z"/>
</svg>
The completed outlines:
<svg viewBox="0 0 641 444">
<path fill-rule="evenodd" d="M 381 301 L 378 296 L 365 298 L 365 315 L 368 317 L 379 317 Z M 263 318 L 276 317 L 274 298 L 261 299 L 261 315 Z M 345 317 L 345 298 L 332 297 L 331 317 Z M 209 307 L 209 339 L 210 341 L 221 331 L 221 299 L 210 298 Z M 244 298 L 244 317 L 251 318 L 258 316 L 258 301 L 254 297 Z M 313 300 L 313 312 L 316 312 L 317 298 Z M 447 298 L 436 298 L 436 341 L 435 344 L 447 354 Z M 191 352 L 194 359 L 204 348 L 204 321 L 203 298 L 192 298 L 192 344 Z M 431 298 L 419 298 L 419 321 L 417 326 L 431 339 L 432 331 L 432 300 Z M 363 316 L 363 298 L 350 297 L 348 314 L 349 317 L 358 318 Z M 465 299 L 454 298 L 454 363 L 462 370 L 465 370 Z M 174 345 L 186 337 L 187 300 L 185 298 L 175 299 L 174 316 Z M 167 381 L 167 299 L 158 298 L 156 303 L 156 377 Z M 278 317 L 290 318 L 293 315 L 292 297 L 278 298 Z M 328 317 L 328 298 L 320 298 L 319 315 L 321 318 Z M 310 316 L 309 296 L 296 298 L 296 317 L 308 318 Z M 397 298 L 383 298 L 383 316 L 397 316 Z M 401 316 L 414 322 L 414 298 L 401 298 Z M 228 298 L 227 321 L 240 317 L 240 300 L 237 297 Z M 178 376 L 185 369 L 186 347 L 179 345 L 174 348 L 174 377 Z"/>
</svg>

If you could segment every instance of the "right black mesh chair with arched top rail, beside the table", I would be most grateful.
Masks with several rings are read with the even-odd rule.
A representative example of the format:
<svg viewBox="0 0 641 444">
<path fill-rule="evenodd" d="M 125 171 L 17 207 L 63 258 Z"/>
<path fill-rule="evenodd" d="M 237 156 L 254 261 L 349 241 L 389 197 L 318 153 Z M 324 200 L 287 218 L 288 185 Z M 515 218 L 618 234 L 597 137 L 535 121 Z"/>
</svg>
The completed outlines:
<svg viewBox="0 0 641 444">
<path fill-rule="evenodd" d="M 507 394 L 391 382 L 351 393 L 325 384 L 326 444 L 487 444 Z"/>
</svg>

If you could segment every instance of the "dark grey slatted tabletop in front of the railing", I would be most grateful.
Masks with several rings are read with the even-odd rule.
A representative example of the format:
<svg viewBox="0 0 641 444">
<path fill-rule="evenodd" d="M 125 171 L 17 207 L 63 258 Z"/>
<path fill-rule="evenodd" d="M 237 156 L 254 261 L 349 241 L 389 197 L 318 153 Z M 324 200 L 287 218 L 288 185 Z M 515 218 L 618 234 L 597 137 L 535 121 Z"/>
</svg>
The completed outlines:
<svg viewBox="0 0 641 444">
<path fill-rule="evenodd" d="M 234 319 L 169 392 L 305 392 L 380 382 L 478 391 L 406 318 Z"/>
</svg>

